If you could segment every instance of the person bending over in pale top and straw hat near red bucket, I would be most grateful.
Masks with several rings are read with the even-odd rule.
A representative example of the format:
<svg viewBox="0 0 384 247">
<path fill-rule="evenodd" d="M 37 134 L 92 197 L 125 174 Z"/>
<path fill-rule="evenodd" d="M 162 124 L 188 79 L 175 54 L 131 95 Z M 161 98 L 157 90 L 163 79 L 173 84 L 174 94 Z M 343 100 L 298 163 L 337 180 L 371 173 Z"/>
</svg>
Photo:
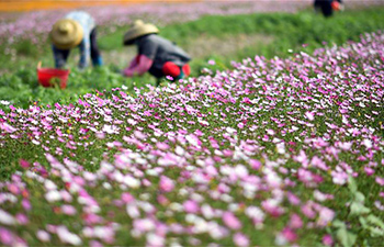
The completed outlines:
<svg viewBox="0 0 384 247">
<path fill-rule="evenodd" d="M 97 29 L 93 18 L 83 11 L 72 11 L 58 20 L 50 31 L 52 48 L 56 68 L 66 65 L 70 49 L 80 48 L 79 68 L 86 68 L 91 58 L 93 66 L 103 64 L 97 45 Z"/>
</svg>

